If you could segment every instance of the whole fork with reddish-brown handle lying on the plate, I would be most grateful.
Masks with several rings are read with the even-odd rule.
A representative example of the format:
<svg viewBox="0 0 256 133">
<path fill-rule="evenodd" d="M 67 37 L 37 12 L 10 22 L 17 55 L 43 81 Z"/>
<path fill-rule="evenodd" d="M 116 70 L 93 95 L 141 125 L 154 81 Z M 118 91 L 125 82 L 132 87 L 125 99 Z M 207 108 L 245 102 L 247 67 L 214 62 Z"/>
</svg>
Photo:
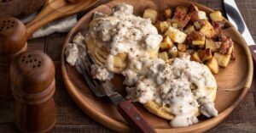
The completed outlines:
<svg viewBox="0 0 256 133">
<path fill-rule="evenodd" d="M 113 88 L 113 84 L 109 81 L 100 81 L 93 79 L 90 74 L 90 65 L 94 64 L 90 55 L 86 55 L 85 58 L 79 56 L 77 60 L 77 66 L 80 68 L 84 80 L 89 86 L 90 90 L 96 95 L 96 97 L 108 96 L 110 100 L 117 106 L 119 114 L 127 121 L 131 128 L 141 133 L 155 133 L 156 131 L 148 124 L 143 118 L 143 114 L 140 114 L 137 108 L 131 103 L 130 100 L 126 100 Z"/>
</svg>

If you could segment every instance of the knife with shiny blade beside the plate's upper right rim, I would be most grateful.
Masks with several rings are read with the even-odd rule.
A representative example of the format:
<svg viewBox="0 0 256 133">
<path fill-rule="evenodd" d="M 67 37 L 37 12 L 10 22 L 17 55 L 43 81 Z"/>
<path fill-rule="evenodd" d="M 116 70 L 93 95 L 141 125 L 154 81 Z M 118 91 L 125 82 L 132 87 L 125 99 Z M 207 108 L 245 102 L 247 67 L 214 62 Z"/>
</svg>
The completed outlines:
<svg viewBox="0 0 256 133">
<path fill-rule="evenodd" d="M 253 41 L 253 36 L 247 28 L 247 25 L 244 19 L 241 16 L 241 13 L 236 5 L 235 0 L 224 0 L 224 12 L 229 19 L 230 23 L 240 31 L 241 36 L 247 42 L 247 46 L 250 48 L 253 55 L 253 61 L 256 63 L 256 45 Z"/>
</svg>

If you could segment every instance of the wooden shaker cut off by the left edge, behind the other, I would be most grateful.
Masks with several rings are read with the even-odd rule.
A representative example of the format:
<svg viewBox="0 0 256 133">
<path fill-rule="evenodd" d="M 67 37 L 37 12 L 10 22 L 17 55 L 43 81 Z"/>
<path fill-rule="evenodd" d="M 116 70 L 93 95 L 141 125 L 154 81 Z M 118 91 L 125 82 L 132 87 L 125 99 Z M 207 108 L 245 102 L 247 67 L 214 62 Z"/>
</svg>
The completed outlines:
<svg viewBox="0 0 256 133">
<path fill-rule="evenodd" d="M 9 83 L 9 65 L 26 51 L 26 27 L 19 19 L 0 19 L 0 99 L 13 99 Z"/>
</svg>

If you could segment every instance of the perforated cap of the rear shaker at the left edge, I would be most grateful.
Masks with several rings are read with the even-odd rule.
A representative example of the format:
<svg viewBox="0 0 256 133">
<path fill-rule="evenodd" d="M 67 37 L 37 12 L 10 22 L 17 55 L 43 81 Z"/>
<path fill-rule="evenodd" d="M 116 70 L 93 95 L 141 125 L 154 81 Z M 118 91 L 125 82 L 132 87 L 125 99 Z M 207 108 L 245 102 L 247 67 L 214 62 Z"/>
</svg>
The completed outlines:
<svg viewBox="0 0 256 133">
<path fill-rule="evenodd" d="M 0 19 L 0 55 L 19 52 L 25 46 L 26 39 L 26 26 L 19 19 Z"/>
</svg>

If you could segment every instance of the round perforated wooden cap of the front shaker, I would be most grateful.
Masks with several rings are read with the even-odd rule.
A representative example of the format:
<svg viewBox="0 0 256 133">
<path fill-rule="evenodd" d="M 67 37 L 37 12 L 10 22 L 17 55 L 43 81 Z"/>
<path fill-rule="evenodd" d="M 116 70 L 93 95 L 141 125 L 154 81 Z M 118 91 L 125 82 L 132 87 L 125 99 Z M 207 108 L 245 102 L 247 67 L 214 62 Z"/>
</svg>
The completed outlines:
<svg viewBox="0 0 256 133">
<path fill-rule="evenodd" d="M 55 81 L 55 65 L 41 51 L 26 51 L 12 62 L 10 78 L 16 93 L 38 93 L 48 89 Z"/>
</svg>

